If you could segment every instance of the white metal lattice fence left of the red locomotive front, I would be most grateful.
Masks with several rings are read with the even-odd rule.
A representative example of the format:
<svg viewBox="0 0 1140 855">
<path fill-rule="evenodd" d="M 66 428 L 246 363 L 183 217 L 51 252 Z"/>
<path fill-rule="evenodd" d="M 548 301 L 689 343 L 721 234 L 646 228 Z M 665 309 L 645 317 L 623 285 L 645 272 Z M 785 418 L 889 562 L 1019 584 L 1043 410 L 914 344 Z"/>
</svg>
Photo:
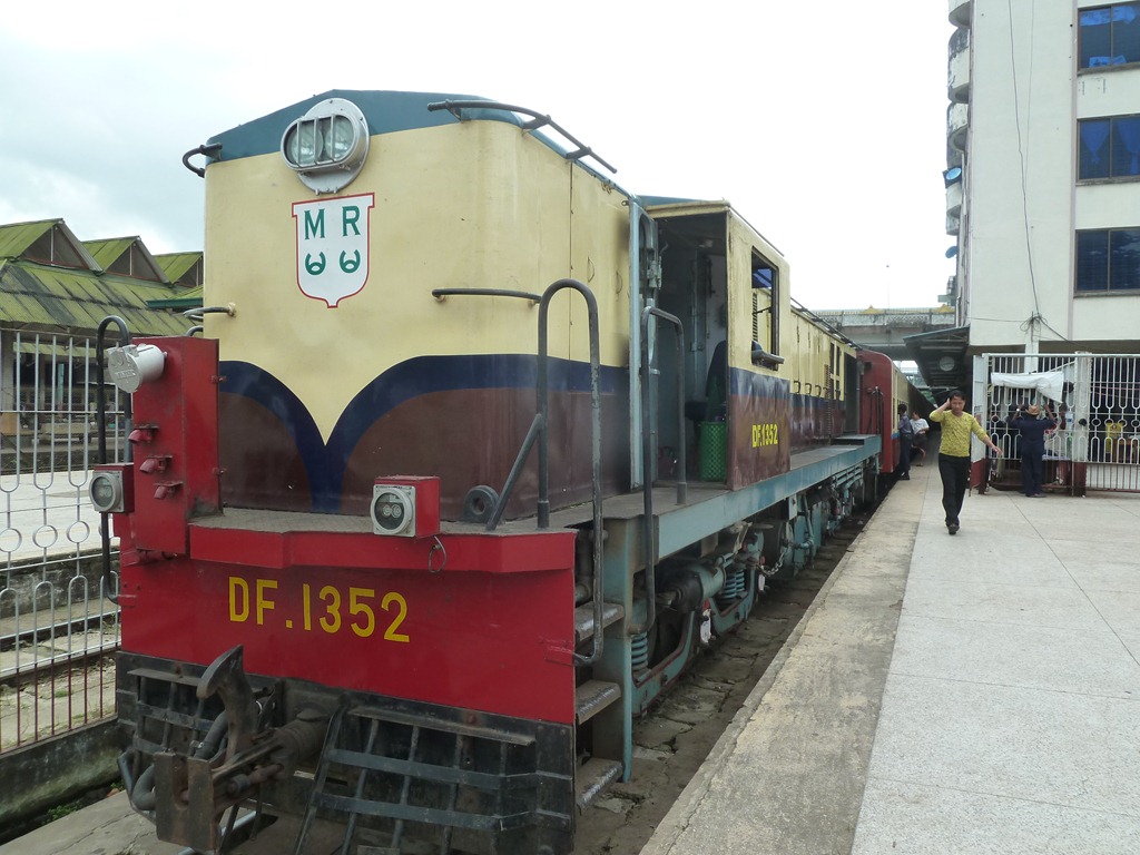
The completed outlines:
<svg viewBox="0 0 1140 855">
<path fill-rule="evenodd" d="M 0 328 L 0 751 L 115 711 L 119 608 L 87 496 L 98 462 L 95 350 L 88 339 Z M 111 459 L 123 447 L 120 404 L 109 390 Z"/>
</svg>

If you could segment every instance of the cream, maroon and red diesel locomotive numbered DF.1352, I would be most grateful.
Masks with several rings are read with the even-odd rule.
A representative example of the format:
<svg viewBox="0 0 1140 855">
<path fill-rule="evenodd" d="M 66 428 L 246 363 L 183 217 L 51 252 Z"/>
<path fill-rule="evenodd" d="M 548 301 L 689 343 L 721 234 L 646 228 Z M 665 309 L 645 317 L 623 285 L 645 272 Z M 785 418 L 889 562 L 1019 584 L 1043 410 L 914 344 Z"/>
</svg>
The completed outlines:
<svg viewBox="0 0 1140 855">
<path fill-rule="evenodd" d="M 635 717 L 876 498 L 889 360 L 728 203 L 519 106 L 337 90 L 184 162 L 201 328 L 108 342 L 91 488 L 132 805 L 198 852 L 243 805 L 296 853 L 570 852 Z"/>
</svg>

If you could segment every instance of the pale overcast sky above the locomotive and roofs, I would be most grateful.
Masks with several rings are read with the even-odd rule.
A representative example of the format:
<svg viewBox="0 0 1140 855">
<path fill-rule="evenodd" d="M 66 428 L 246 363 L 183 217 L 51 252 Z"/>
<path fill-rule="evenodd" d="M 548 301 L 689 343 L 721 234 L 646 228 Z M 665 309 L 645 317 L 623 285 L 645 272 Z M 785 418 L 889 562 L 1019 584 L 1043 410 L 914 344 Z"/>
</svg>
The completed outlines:
<svg viewBox="0 0 1140 855">
<path fill-rule="evenodd" d="M 549 115 L 638 195 L 727 199 L 809 309 L 937 306 L 939 0 L 215 6 L 64 0 L 0 16 L 0 223 L 203 249 L 207 138 L 332 89 Z M 198 165 L 202 158 L 196 158 Z"/>
</svg>

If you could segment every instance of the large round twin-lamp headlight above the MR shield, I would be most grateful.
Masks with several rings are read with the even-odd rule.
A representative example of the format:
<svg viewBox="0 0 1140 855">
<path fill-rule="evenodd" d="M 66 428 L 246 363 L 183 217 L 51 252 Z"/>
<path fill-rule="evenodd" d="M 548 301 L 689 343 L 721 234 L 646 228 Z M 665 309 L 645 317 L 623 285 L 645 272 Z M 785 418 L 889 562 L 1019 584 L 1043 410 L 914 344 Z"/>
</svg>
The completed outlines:
<svg viewBox="0 0 1140 855">
<path fill-rule="evenodd" d="M 306 187 L 336 193 L 364 168 L 368 121 L 352 101 L 327 98 L 285 129 L 280 152 Z"/>
</svg>

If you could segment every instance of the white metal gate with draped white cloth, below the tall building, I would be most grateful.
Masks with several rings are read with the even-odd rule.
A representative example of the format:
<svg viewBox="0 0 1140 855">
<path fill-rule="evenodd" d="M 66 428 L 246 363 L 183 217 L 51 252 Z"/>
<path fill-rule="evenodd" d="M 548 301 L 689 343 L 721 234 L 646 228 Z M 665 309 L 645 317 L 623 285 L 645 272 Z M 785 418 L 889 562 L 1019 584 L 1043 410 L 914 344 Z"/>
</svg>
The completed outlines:
<svg viewBox="0 0 1140 855">
<path fill-rule="evenodd" d="M 977 357 L 975 400 L 1002 449 L 991 484 L 1020 486 L 1018 433 L 1008 427 L 1018 406 L 1049 405 L 1056 430 L 1045 435 L 1047 489 L 1140 491 L 1140 356 L 1009 355 Z"/>
</svg>

